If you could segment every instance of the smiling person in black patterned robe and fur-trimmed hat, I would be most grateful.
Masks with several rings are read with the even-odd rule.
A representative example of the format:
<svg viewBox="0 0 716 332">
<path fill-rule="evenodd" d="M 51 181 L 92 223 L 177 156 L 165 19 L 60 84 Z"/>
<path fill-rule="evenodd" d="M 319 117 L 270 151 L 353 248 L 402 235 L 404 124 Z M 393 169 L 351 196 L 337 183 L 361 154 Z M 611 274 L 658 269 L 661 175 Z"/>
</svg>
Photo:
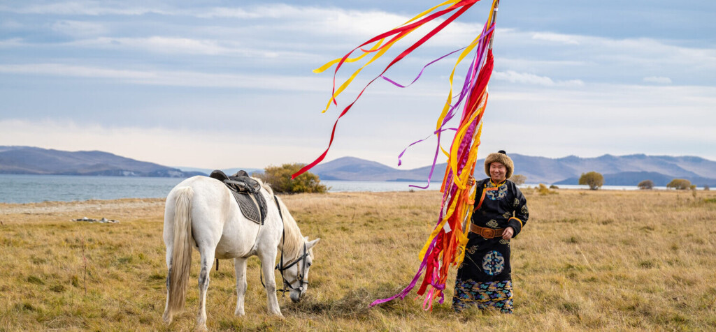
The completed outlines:
<svg viewBox="0 0 716 332">
<path fill-rule="evenodd" d="M 475 183 L 475 210 L 465 260 L 458 268 L 455 281 L 453 309 L 462 311 L 468 306 L 494 307 L 512 313 L 512 268 L 510 241 L 527 222 L 525 196 L 508 178 L 514 170 L 505 151 L 485 158 L 485 173 L 489 178 Z"/>
</svg>

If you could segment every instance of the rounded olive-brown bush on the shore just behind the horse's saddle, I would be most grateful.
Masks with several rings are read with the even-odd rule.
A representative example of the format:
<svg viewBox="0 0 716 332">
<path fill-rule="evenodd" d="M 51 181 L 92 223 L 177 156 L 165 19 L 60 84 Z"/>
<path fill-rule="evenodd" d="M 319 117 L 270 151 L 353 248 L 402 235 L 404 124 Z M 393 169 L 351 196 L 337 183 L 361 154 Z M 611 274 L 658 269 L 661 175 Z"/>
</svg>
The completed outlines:
<svg viewBox="0 0 716 332">
<path fill-rule="evenodd" d="M 325 193 L 328 188 L 321 184 L 321 180 L 314 173 L 306 172 L 291 180 L 291 175 L 304 165 L 296 163 L 268 166 L 258 177 L 271 184 L 271 188 L 277 193 Z"/>
</svg>

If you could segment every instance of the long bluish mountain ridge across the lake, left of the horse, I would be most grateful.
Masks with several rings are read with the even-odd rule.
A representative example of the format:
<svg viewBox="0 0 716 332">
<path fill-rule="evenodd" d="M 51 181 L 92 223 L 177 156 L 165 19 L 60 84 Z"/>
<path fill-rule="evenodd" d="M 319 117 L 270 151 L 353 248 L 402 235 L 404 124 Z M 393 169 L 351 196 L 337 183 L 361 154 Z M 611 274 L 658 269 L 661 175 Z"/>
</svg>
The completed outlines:
<svg viewBox="0 0 716 332">
<path fill-rule="evenodd" d="M 102 151 L 59 151 L 31 146 L 0 146 L 0 173 L 188 177 L 200 172 L 137 161 Z"/>
</svg>

